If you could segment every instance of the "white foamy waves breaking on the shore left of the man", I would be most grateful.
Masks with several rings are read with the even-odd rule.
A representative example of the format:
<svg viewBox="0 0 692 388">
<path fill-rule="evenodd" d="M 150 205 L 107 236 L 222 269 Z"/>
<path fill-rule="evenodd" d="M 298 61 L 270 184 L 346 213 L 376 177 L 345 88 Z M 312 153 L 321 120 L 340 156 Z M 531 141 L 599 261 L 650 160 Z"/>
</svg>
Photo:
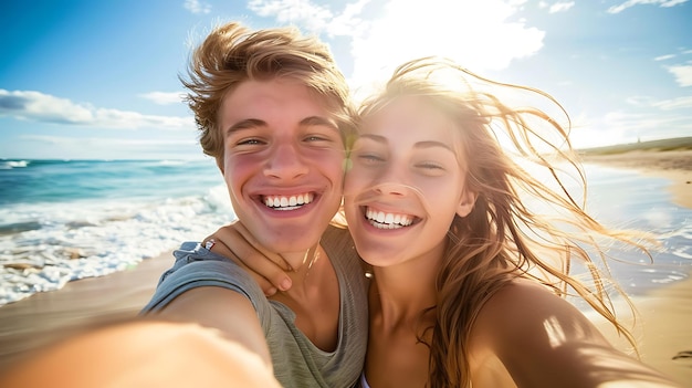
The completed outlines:
<svg viewBox="0 0 692 388">
<path fill-rule="evenodd" d="M 45 207 L 52 213 L 42 216 L 50 222 L 34 219 L 6 226 L 7 232 L 0 233 L 0 306 L 59 290 L 70 281 L 123 271 L 182 241 L 203 239 L 235 218 L 224 192 L 226 188 L 214 187 L 203 196 L 102 202 L 76 211 Z M 40 214 L 23 211 L 15 218 Z"/>
</svg>

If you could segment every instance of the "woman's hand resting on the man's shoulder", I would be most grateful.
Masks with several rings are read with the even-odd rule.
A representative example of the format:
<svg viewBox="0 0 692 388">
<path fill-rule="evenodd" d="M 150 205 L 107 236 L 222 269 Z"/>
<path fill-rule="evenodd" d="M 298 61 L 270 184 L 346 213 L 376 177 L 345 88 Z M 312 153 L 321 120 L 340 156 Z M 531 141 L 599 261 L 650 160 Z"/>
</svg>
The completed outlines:
<svg viewBox="0 0 692 388">
<path fill-rule="evenodd" d="M 291 289 L 283 258 L 265 250 L 240 221 L 221 227 L 202 241 L 202 247 L 245 269 L 266 296 Z"/>
</svg>

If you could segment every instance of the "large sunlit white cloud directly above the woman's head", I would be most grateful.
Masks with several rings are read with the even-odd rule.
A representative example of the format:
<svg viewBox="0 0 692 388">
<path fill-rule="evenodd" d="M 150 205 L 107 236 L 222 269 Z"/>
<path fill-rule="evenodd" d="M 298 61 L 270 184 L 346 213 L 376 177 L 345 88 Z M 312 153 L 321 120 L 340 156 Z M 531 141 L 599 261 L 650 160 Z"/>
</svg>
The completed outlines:
<svg viewBox="0 0 692 388">
<path fill-rule="evenodd" d="M 543 31 L 507 21 L 518 7 L 497 0 L 428 0 L 407 7 L 389 1 L 382 14 L 353 38 L 353 84 L 386 80 L 391 67 L 427 55 L 448 56 L 479 73 L 503 70 L 543 46 Z"/>
</svg>

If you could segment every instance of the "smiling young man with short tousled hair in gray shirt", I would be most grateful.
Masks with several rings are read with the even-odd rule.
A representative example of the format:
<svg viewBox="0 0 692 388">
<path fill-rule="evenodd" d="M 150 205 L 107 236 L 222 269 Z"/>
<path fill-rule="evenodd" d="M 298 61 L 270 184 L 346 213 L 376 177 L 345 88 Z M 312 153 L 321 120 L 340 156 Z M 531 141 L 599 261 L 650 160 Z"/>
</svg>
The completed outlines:
<svg viewBox="0 0 692 388">
<path fill-rule="evenodd" d="M 220 329 L 283 386 L 353 386 L 367 284 L 348 231 L 329 221 L 355 115 L 328 49 L 294 29 L 229 23 L 197 48 L 184 84 L 238 219 L 283 258 L 293 285 L 268 298 L 237 264 L 185 243 L 144 313 Z"/>
</svg>

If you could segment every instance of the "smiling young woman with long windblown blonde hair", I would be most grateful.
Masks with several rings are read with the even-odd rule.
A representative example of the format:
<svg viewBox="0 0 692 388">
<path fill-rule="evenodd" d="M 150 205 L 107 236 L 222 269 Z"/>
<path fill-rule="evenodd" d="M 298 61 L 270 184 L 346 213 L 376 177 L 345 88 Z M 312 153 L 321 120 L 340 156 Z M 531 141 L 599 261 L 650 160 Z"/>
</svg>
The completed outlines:
<svg viewBox="0 0 692 388">
<path fill-rule="evenodd" d="M 581 297 L 635 345 L 611 307 L 617 286 L 591 258 L 605 254 L 596 241 L 608 240 L 648 254 L 633 240 L 643 235 L 606 229 L 585 212 L 558 172 L 572 169 L 586 190 L 567 129 L 542 109 L 503 103 L 503 90 L 564 112 L 539 91 L 438 59 L 403 64 L 361 106 L 344 186 L 348 229 L 371 265 L 361 385 L 677 386 L 614 348 L 565 301 Z M 573 261 L 589 282 L 570 274 Z"/>
</svg>

